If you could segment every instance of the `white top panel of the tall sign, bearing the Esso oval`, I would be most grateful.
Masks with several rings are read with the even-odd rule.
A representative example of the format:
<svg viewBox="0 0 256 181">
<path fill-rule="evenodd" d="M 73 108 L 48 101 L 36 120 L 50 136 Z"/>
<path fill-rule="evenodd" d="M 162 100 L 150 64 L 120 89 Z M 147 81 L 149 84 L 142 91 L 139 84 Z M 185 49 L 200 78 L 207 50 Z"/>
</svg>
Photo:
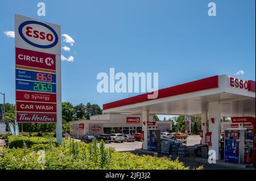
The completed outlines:
<svg viewBox="0 0 256 181">
<path fill-rule="evenodd" d="M 15 47 L 60 55 L 60 26 L 15 14 Z"/>
</svg>

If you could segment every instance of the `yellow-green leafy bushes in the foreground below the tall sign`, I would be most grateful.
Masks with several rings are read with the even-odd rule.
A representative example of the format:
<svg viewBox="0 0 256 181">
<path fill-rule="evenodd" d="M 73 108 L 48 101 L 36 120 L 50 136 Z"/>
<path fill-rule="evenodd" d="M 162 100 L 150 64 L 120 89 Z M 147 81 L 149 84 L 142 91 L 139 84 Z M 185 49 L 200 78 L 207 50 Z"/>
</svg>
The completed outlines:
<svg viewBox="0 0 256 181">
<path fill-rule="evenodd" d="M 170 158 L 114 152 L 113 148 L 105 148 L 104 141 L 98 144 L 94 140 L 90 144 L 85 144 L 71 139 L 63 140 L 63 144 L 56 145 L 51 144 L 51 138 L 42 137 L 11 136 L 10 140 L 13 149 L 1 151 L 5 157 L 0 158 L 0 170 L 189 169 L 183 163 L 172 161 Z M 45 151 L 43 164 L 38 162 L 41 153 L 39 150 Z"/>
</svg>

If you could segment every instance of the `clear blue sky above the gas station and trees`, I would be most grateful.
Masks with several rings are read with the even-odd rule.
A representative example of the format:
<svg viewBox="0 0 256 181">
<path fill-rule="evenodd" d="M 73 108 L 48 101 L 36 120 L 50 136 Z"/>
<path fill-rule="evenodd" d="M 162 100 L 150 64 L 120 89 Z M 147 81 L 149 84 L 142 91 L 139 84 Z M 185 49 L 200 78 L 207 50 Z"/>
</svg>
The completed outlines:
<svg viewBox="0 0 256 181">
<path fill-rule="evenodd" d="M 100 72 L 159 73 L 159 89 L 220 74 L 255 80 L 255 1 L 40 1 L 0 0 L 0 92 L 15 103 L 14 14 L 61 25 L 75 40 L 63 56 L 63 101 L 104 103 L 136 95 L 98 93 Z M 208 16 L 215 2 L 217 16 Z M 0 98 L 2 102 L 2 97 Z"/>
</svg>

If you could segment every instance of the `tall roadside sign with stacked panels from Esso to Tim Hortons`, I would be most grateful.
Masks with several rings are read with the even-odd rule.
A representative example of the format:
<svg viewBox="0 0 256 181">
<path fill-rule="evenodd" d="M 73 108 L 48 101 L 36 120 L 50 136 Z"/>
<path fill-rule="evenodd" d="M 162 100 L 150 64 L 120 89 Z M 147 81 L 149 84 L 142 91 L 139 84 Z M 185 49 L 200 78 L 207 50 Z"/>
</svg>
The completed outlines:
<svg viewBox="0 0 256 181">
<path fill-rule="evenodd" d="M 60 26 L 15 15 L 16 120 L 61 119 Z"/>
</svg>

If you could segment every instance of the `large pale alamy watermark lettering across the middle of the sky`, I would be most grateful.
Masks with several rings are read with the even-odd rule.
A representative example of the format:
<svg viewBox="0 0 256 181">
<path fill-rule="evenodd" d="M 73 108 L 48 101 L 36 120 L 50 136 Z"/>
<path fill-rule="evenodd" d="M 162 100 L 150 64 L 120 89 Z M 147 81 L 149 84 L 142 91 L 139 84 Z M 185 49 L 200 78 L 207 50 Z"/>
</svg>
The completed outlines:
<svg viewBox="0 0 256 181">
<path fill-rule="evenodd" d="M 158 97 L 158 73 L 115 73 L 114 68 L 110 68 L 108 73 L 97 74 L 97 91 L 102 92 L 151 92 L 148 99 Z"/>
</svg>

